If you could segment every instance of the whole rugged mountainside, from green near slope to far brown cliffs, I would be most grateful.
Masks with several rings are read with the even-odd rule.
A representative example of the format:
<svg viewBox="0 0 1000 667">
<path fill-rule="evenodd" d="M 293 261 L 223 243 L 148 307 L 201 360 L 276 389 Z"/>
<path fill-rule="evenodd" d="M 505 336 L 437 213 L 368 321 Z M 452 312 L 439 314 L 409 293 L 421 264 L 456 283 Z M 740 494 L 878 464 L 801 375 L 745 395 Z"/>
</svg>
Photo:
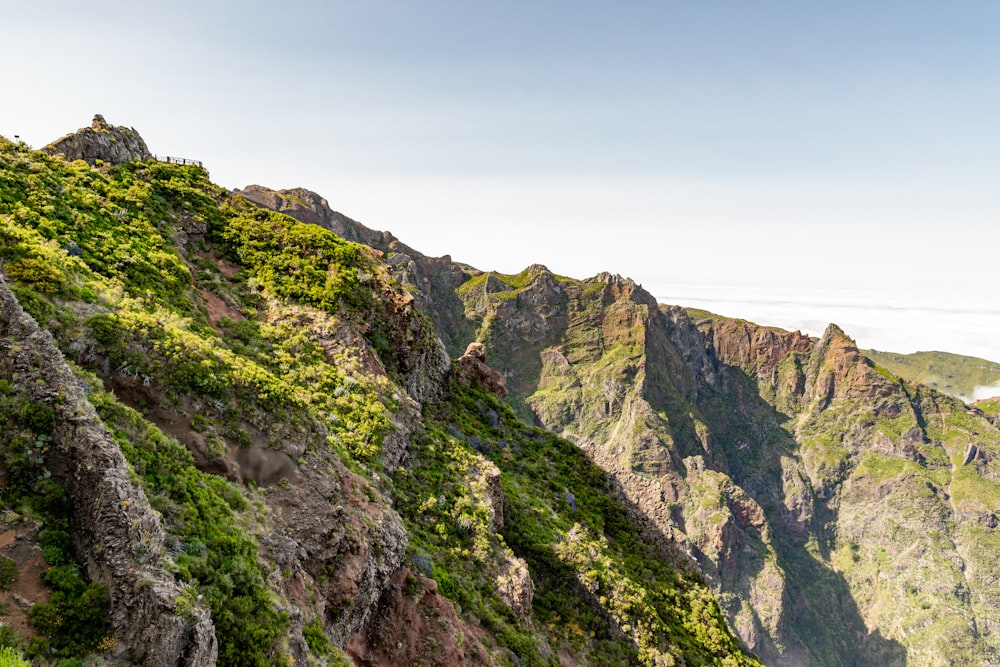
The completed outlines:
<svg viewBox="0 0 1000 667">
<path fill-rule="evenodd" d="M 1000 664 L 996 401 L 100 117 L 0 172 L 11 660 Z"/>
</svg>

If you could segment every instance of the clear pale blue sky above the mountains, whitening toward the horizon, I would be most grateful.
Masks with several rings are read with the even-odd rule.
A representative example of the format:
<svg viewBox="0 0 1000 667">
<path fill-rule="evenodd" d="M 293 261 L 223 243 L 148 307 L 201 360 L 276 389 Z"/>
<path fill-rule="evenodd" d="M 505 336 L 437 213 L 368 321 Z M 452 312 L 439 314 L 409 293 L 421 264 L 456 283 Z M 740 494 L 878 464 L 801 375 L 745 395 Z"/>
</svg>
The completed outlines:
<svg viewBox="0 0 1000 667">
<path fill-rule="evenodd" d="M 482 269 L 996 302 L 1000 3 L 0 0 L 0 21 L 0 133 L 33 145 L 103 113 Z"/>
</svg>

